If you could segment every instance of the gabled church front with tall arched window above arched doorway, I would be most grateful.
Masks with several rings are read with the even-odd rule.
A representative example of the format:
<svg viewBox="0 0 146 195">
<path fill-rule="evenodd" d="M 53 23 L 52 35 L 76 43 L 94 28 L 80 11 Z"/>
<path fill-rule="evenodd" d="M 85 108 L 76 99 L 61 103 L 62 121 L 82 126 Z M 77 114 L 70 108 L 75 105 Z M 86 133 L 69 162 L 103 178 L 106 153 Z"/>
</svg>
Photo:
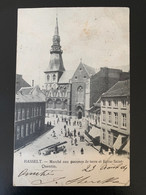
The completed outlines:
<svg viewBox="0 0 146 195">
<path fill-rule="evenodd" d="M 90 80 L 95 69 L 80 62 L 72 79 L 71 113 L 79 119 L 85 116 L 85 110 L 91 106 Z"/>
</svg>

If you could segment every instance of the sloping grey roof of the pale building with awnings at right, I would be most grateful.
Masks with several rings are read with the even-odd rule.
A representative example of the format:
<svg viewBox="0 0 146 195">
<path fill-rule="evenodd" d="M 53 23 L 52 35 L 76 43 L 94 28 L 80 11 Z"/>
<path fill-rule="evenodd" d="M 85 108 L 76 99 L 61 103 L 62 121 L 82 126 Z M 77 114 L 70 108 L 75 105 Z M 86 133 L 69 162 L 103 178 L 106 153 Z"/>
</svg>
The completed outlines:
<svg viewBox="0 0 146 195">
<path fill-rule="evenodd" d="M 102 97 L 130 96 L 130 80 L 118 81 Z"/>
</svg>

